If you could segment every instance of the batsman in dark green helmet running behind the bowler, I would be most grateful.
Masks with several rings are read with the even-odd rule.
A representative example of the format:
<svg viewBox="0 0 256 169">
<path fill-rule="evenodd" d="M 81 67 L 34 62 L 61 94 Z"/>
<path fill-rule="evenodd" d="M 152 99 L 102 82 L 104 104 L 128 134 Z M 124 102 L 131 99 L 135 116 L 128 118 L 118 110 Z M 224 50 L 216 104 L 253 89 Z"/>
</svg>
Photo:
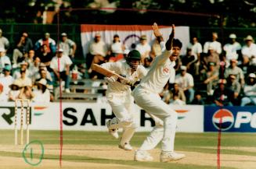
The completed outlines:
<svg viewBox="0 0 256 169">
<path fill-rule="evenodd" d="M 119 148 L 132 150 L 130 140 L 136 129 L 133 118 L 135 104 L 131 95 L 131 86 L 127 85 L 127 83 L 133 85 L 139 79 L 146 76 L 147 71 L 142 65 L 139 65 L 141 60 L 139 51 L 130 51 L 125 59 L 126 62 L 107 62 L 101 66 L 128 79 L 128 82 L 120 83 L 117 82 L 116 76 L 106 77 L 108 82 L 106 98 L 116 116 L 116 118 L 107 121 L 106 126 L 110 134 L 116 139 L 118 138 L 117 129 L 123 129 Z"/>
</svg>

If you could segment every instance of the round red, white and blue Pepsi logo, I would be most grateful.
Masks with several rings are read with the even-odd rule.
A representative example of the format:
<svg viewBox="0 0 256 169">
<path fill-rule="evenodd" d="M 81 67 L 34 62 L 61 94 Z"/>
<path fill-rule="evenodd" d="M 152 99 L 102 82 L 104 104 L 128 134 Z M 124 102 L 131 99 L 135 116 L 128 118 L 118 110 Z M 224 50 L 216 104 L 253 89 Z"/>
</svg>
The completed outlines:
<svg viewBox="0 0 256 169">
<path fill-rule="evenodd" d="M 220 109 L 212 116 L 212 123 L 216 129 L 226 131 L 233 126 L 233 113 L 227 109 Z"/>
</svg>

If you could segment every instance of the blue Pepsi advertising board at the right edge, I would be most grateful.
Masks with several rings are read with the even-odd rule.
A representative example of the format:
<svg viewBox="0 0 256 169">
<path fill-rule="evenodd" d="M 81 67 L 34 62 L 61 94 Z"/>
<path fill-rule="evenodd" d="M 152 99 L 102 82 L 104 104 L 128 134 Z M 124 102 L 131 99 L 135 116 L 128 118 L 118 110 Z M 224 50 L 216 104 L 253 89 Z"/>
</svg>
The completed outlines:
<svg viewBox="0 0 256 169">
<path fill-rule="evenodd" d="M 204 132 L 256 132 L 256 107 L 204 107 Z"/>
</svg>

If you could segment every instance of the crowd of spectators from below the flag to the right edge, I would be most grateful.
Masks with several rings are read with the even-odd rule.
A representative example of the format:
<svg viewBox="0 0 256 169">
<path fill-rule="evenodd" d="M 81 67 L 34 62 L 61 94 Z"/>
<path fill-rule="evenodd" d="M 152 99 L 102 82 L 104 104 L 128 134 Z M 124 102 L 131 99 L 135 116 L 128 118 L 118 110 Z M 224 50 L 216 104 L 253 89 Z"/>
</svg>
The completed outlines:
<svg viewBox="0 0 256 169">
<path fill-rule="evenodd" d="M 218 41 L 216 32 L 203 45 L 197 37 L 192 37 L 186 55 L 176 62 L 175 78 L 169 80 L 160 96 L 168 104 L 255 105 L 255 45 L 251 35 L 244 38 L 243 44 L 236 41 L 235 33 L 229 35 L 226 44 Z M 146 35 L 131 47 L 121 45 L 115 35 L 109 46 L 96 33 L 86 57 L 88 68 L 92 63 L 117 62 L 125 57 L 127 50 L 136 49 L 142 55 L 141 64 L 150 69 L 151 62 L 161 52 L 157 40 L 150 45 Z M 92 79 L 103 78 L 90 69 L 88 72 Z"/>
</svg>

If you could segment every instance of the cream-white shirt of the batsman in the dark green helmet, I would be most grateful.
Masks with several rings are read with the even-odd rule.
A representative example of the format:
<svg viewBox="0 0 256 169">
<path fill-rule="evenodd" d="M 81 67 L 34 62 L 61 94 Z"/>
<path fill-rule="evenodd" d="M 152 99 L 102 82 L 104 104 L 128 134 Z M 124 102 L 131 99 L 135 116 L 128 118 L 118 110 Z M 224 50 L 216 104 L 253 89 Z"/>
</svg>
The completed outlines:
<svg viewBox="0 0 256 169">
<path fill-rule="evenodd" d="M 107 62 L 101 65 L 105 69 L 109 69 L 110 71 L 114 71 L 120 76 L 125 77 L 129 80 L 130 83 L 134 84 L 135 82 L 142 79 L 146 76 L 147 70 L 143 65 L 139 65 L 135 72 L 132 73 L 131 67 L 125 62 Z M 130 90 L 131 86 L 124 85 L 119 82 L 109 83 L 107 90 L 109 92 L 123 92 L 126 90 Z"/>
</svg>

